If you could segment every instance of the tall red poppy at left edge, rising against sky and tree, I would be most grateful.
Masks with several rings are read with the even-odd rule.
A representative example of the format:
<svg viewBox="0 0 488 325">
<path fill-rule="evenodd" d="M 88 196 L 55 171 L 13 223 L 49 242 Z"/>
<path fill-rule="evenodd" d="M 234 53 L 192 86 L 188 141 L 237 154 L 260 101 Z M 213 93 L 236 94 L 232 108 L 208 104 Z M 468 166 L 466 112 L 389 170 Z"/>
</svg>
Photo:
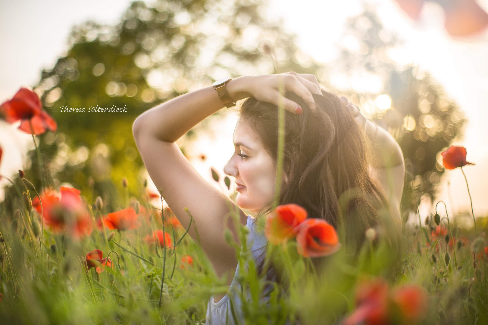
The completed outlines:
<svg viewBox="0 0 488 325">
<path fill-rule="evenodd" d="M 54 132 L 58 127 L 56 121 L 42 109 L 39 96 L 27 88 L 20 88 L 12 99 L 3 102 L 0 115 L 8 123 L 20 120 L 19 130 L 28 134 L 43 134 L 47 129 Z"/>
</svg>

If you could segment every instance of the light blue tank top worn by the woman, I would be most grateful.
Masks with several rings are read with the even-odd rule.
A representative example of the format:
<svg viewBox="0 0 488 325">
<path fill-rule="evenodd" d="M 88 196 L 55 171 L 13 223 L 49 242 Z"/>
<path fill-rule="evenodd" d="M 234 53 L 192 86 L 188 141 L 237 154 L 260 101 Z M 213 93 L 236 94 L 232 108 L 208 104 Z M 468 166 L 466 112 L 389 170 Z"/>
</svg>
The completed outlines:
<svg viewBox="0 0 488 325">
<path fill-rule="evenodd" d="M 247 247 L 249 248 L 249 251 L 257 265 L 258 257 L 261 256 L 266 249 L 267 238 L 264 233 L 256 231 L 257 225 L 253 225 L 253 222 L 254 218 L 251 215 L 247 215 L 246 227 L 249 229 L 249 233 L 247 235 Z M 244 324 L 242 302 L 238 294 L 238 292 L 241 291 L 241 285 L 238 280 L 239 263 L 240 262 L 237 263 L 234 278 L 232 279 L 229 291 L 225 294 L 225 296 L 217 303 L 214 300 L 214 296 L 210 296 L 210 299 L 208 300 L 205 325 L 236 325 L 230 309 L 229 294 L 232 294 L 232 304 L 236 319 L 240 324 Z M 247 293 L 247 295 L 249 297 L 249 293 Z M 267 301 L 269 300 L 269 297 L 262 297 L 261 299 L 263 301 Z"/>
</svg>

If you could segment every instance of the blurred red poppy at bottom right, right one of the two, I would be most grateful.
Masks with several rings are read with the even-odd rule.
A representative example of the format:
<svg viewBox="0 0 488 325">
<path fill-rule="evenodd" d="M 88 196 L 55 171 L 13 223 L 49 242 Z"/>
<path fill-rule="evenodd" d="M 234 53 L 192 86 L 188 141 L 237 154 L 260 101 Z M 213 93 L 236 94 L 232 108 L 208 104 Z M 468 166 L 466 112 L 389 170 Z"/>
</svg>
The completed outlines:
<svg viewBox="0 0 488 325">
<path fill-rule="evenodd" d="M 427 312 L 427 294 L 416 285 L 405 285 L 394 290 L 392 300 L 399 307 L 403 323 L 415 324 Z"/>
</svg>

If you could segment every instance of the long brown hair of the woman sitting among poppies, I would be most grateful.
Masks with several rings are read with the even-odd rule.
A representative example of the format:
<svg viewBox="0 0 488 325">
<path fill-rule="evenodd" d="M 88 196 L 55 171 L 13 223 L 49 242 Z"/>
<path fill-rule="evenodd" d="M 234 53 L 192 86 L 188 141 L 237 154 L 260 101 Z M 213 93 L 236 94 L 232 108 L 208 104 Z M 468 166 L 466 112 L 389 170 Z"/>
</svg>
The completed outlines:
<svg viewBox="0 0 488 325">
<path fill-rule="evenodd" d="M 365 230 L 381 224 L 379 211 L 390 211 L 383 188 L 369 173 L 372 155 L 366 133 L 335 94 L 322 90 L 322 95 L 313 95 L 315 111 L 294 93 L 287 92 L 285 97 L 298 103 L 303 114 L 285 111 L 283 168 L 287 180 L 278 205 L 298 204 L 308 217 L 324 219 L 336 229 L 342 222 L 344 241 L 358 251 Z M 278 107 L 249 97 L 242 102 L 239 116 L 256 132 L 276 170 Z M 343 205 L 348 193 L 355 195 Z M 272 203 L 259 210 L 256 220 L 271 211 Z M 263 272 L 264 255 L 265 251 L 257 261 L 259 273 Z M 266 277 L 280 281 L 279 271 L 273 268 Z"/>
</svg>

